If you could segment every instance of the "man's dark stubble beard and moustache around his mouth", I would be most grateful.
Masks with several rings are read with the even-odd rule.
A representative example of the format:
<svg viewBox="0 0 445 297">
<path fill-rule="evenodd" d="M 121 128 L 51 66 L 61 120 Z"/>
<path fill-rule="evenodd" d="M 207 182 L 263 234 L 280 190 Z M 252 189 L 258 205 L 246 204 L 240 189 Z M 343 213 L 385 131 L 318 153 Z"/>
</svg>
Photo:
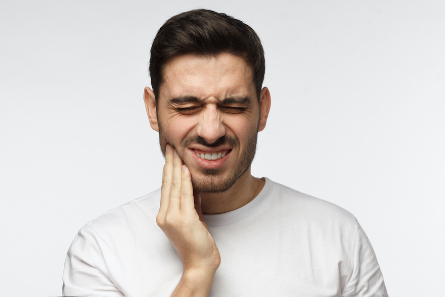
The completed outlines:
<svg viewBox="0 0 445 297">
<path fill-rule="evenodd" d="M 257 129 L 258 131 L 258 129 Z M 250 168 L 252 161 L 255 157 L 255 151 L 257 148 L 257 138 L 258 133 L 255 132 L 252 136 L 247 139 L 246 148 L 244 152 L 239 152 L 241 154 L 238 163 L 235 164 L 234 170 L 229 174 L 229 176 L 224 177 L 223 169 L 207 169 L 207 168 L 199 168 L 201 174 L 193 174 L 192 172 L 192 185 L 193 190 L 201 192 L 201 193 L 223 193 L 228 191 L 235 182 L 243 176 L 246 171 Z M 232 151 L 240 148 L 239 140 L 233 136 L 224 135 L 220 139 L 218 139 L 213 144 L 208 144 L 203 138 L 199 136 L 191 136 L 184 138 L 181 142 L 181 150 L 186 151 L 190 144 L 201 144 L 211 147 L 217 147 L 223 144 L 229 144 L 232 147 Z M 161 146 L 162 153 L 164 154 L 164 150 L 166 144 L 172 144 L 169 142 L 168 136 L 162 133 L 161 126 L 159 125 L 159 144 Z M 181 152 L 178 151 L 179 156 L 183 160 L 183 156 Z M 186 164 L 187 165 L 187 164 Z M 228 169 L 225 169 L 228 170 Z M 199 176 L 198 176 L 199 175 Z"/>
</svg>

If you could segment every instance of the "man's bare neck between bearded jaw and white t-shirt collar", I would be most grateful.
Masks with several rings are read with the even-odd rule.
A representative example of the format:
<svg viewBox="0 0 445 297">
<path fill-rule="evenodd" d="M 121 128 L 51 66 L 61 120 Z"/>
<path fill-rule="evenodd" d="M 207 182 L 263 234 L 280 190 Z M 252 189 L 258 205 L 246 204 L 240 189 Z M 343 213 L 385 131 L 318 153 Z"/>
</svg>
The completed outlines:
<svg viewBox="0 0 445 297">
<path fill-rule="evenodd" d="M 250 168 L 222 193 L 200 193 L 201 208 L 204 214 L 223 213 L 238 209 L 260 194 L 265 181 L 250 174 Z"/>
</svg>

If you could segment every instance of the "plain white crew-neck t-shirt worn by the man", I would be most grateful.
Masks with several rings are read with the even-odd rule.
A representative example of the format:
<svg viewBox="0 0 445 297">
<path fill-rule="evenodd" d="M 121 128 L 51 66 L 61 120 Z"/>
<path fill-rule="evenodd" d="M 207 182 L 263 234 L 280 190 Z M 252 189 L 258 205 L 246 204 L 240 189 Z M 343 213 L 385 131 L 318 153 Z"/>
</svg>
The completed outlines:
<svg viewBox="0 0 445 297">
<path fill-rule="evenodd" d="M 374 251 L 348 211 L 265 178 L 245 206 L 204 215 L 221 254 L 210 293 L 386 297 Z M 161 190 L 85 225 L 68 250 L 64 296 L 170 296 L 182 263 L 156 225 Z"/>
</svg>

